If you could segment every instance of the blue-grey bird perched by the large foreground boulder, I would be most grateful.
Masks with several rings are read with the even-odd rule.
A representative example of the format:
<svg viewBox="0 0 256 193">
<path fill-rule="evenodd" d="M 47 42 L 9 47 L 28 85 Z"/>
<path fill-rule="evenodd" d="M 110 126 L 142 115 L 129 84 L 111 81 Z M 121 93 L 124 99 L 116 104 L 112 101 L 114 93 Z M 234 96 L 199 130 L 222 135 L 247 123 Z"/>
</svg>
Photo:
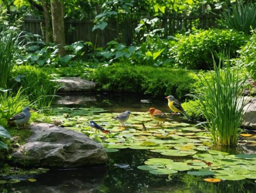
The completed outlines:
<svg viewBox="0 0 256 193">
<path fill-rule="evenodd" d="M 8 122 L 15 122 L 18 129 L 19 129 L 18 126 L 23 126 L 23 128 L 25 128 L 25 125 L 29 122 L 29 119 L 31 116 L 30 110 L 34 111 L 29 107 L 25 107 L 22 112 L 9 118 Z"/>
</svg>

